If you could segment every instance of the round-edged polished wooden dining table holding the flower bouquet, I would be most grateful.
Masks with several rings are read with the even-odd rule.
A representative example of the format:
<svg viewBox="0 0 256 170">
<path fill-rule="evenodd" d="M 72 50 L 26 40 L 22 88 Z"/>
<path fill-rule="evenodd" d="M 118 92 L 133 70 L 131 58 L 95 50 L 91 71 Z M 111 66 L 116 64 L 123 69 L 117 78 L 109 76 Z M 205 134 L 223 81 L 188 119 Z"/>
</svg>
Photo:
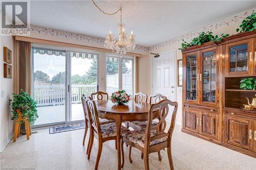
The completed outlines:
<svg viewBox="0 0 256 170">
<path fill-rule="evenodd" d="M 110 100 L 95 101 L 100 118 L 114 120 L 116 122 L 117 138 L 117 167 L 121 169 L 121 126 L 123 122 L 147 120 L 150 104 L 130 101 L 124 105 L 112 103 Z M 158 117 L 159 112 L 153 112 L 153 118 Z"/>
</svg>

